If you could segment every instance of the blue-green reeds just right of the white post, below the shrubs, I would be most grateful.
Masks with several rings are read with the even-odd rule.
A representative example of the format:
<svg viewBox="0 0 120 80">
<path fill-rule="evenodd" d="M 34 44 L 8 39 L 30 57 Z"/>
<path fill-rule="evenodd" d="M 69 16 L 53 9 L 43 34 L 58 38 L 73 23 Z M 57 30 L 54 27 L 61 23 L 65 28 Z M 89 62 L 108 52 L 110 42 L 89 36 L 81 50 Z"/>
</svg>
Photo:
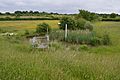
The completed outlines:
<svg viewBox="0 0 120 80">
<path fill-rule="evenodd" d="M 77 44 L 89 44 L 91 37 L 93 37 L 93 32 L 89 31 L 70 31 L 66 42 L 77 43 Z"/>
</svg>

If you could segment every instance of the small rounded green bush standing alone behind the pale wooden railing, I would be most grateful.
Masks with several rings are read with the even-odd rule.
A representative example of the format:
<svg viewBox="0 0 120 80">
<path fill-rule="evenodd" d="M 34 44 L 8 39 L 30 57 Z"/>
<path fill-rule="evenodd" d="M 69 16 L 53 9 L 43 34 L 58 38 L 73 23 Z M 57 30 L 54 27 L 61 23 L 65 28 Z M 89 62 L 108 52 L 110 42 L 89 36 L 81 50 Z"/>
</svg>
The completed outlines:
<svg viewBox="0 0 120 80">
<path fill-rule="evenodd" d="M 38 27 L 36 28 L 36 33 L 41 35 L 47 34 L 50 31 L 51 31 L 51 28 L 47 23 L 39 24 Z"/>
</svg>

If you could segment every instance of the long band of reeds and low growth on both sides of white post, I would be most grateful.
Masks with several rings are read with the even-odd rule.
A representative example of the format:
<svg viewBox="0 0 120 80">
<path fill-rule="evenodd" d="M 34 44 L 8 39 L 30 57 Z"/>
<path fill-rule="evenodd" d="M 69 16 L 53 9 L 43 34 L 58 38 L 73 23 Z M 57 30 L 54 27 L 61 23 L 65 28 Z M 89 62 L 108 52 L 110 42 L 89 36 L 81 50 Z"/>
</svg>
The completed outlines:
<svg viewBox="0 0 120 80">
<path fill-rule="evenodd" d="M 65 41 L 74 44 L 87 44 L 92 46 L 109 45 L 110 37 L 108 34 L 97 36 L 96 32 L 89 30 L 68 31 L 67 38 L 64 37 L 65 31 L 57 30 L 50 33 L 51 40 Z"/>
</svg>

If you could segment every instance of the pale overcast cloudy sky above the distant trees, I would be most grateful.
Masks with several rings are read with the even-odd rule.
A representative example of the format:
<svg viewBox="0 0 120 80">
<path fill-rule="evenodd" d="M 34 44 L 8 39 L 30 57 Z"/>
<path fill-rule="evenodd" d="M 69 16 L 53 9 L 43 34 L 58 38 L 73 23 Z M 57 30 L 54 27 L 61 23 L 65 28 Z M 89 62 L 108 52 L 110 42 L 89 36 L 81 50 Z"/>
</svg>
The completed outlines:
<svg viewBox="0 0 120 80">
<path fill-rule="evenodd" d="M 0 0 L 0 12 L 45 11 L 57 13 L 78 13 L 85 9 L 96 13 L 120 14 L 120 0 Z"/>
</svg>

